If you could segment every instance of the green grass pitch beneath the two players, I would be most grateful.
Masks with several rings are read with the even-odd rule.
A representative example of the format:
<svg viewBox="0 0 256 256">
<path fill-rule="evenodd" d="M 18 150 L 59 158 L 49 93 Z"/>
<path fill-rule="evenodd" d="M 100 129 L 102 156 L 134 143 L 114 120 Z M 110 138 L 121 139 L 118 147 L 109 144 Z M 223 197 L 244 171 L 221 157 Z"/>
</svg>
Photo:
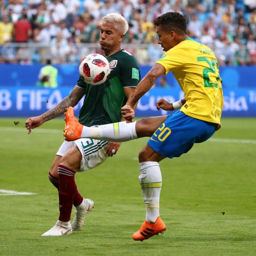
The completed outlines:
<svg viewBox="0 0 256 256">
<path fill-rule="evenodd" d="M 41 237 L 58 218 L 57 190 L 48 172 L 63 140 L 63 120 L 31 135 L 24 121 L 0 119 L 0 189 L 36 195 L 0 197 L 0 255 L 256 254 L 256 119 L 223 118 L 214 135 L 254 144 L 207 141 L 160 163 L 160 213 L 167 229 L 143 243 L 131 236 L 145 218 L 137 156 L 146 139 L 123 143 L 115 157 L 76 175 L 80 193 L 95 202 L 82 231 Z M 43 133 L 47 129 L 59 132 Z"/>
</svg>

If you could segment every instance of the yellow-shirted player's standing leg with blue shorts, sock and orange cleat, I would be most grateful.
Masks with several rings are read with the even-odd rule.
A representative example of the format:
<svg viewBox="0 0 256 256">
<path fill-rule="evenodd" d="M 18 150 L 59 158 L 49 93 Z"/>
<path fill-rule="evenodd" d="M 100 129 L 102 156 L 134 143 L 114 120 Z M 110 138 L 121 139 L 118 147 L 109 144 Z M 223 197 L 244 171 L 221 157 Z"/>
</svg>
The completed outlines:
<svg viewBox="0 0 256 256">
<path fill-rule="evenodd" d="M 217 124 L 177 112 L 168 116 L 148 140 L 147 145 L 139 154 L 141 172 L 139 179 L 146 205 L 146 221 L 141 229 L 133 234 L 135 240 L 143 241 L 154 236 L 154 232 L 159 233 L 159 230 L 164 230 L 165 225 L 158 217 L 162 182 L 158 162 L 165 157 L 179 157 L 187 153 L 194 143 L 205 141 L 212 136 L 216 127 Z M 151 222 L 154 221 L 155 223 L 152 224 Z"/>
</svg>

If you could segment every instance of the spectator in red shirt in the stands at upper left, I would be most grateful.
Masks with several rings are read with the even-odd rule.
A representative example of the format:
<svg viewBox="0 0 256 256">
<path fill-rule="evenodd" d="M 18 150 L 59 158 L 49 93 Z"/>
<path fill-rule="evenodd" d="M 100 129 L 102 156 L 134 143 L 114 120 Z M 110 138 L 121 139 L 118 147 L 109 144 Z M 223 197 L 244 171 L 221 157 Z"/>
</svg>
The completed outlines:
<svg viewBox="0 0 256 256">
<path fill-rule="evenodd" d="M 15 42 L 28 42 L 32 34 L 31 24 L 27 19 L 27 14 L 23 14 L 14 24 L 14 41 Z"/>
</svg>

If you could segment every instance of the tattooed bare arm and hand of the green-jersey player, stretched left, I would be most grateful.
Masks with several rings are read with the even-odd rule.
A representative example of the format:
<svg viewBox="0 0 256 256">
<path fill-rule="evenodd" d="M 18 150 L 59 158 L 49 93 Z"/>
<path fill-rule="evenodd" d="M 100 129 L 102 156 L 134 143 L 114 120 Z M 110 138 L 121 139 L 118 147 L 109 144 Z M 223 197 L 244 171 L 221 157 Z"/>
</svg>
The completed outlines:
<svg viewBox="0 0 256 256">
<path fill-rule="evenodd" d="M 35 129 L 41 124 L 63 115 L 69 106 L 77 105 L 85 93 L 86 89 L 75 86 L 70 95 L 62 99 L 53 109 L 40 116 L 28 118 L 25 122 L 25 127 L 29 130 L 28 134 L 32 132 L 32 129 Z"/>
</svg>

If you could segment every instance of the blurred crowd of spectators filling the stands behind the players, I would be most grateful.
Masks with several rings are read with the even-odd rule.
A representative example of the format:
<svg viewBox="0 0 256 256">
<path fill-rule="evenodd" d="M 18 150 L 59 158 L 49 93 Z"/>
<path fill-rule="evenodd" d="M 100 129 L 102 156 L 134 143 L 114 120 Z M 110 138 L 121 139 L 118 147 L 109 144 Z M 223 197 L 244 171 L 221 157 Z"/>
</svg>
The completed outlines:
<svg viewBox="0 0 256 256">
<path fill-rule="evenodd" d="M 77 63 L 91 53 L 83 44 L 97 43 L 101 17 L 118 12 L 130 25 L 125 49 L 151 65 L 163 53 L 153 20 L 168 11 L 185 15 L 189 36 L 220 65 L 256 65 L 255 0 L 0 0 L 0 62 Z"/>
</svg>

